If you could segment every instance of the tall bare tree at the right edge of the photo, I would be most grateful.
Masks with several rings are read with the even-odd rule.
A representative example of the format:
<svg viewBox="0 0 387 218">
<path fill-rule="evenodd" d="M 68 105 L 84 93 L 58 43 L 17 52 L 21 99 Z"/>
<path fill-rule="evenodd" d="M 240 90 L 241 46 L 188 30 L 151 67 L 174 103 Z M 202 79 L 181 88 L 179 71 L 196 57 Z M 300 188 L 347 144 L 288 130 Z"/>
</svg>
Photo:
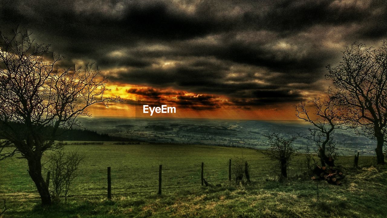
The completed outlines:
<svg viewBox="0 0 387 218">
<path fill-rule="evenodd" d="M 383 145 L 387 126 L 387 42 L 378 49 L 351 45 L 342 62 L 327 66 L 339 105 L 346 106 L 346 119 L 358 134 L 377 140 L 377 163 L 384 164 Z"/>
</svg>

